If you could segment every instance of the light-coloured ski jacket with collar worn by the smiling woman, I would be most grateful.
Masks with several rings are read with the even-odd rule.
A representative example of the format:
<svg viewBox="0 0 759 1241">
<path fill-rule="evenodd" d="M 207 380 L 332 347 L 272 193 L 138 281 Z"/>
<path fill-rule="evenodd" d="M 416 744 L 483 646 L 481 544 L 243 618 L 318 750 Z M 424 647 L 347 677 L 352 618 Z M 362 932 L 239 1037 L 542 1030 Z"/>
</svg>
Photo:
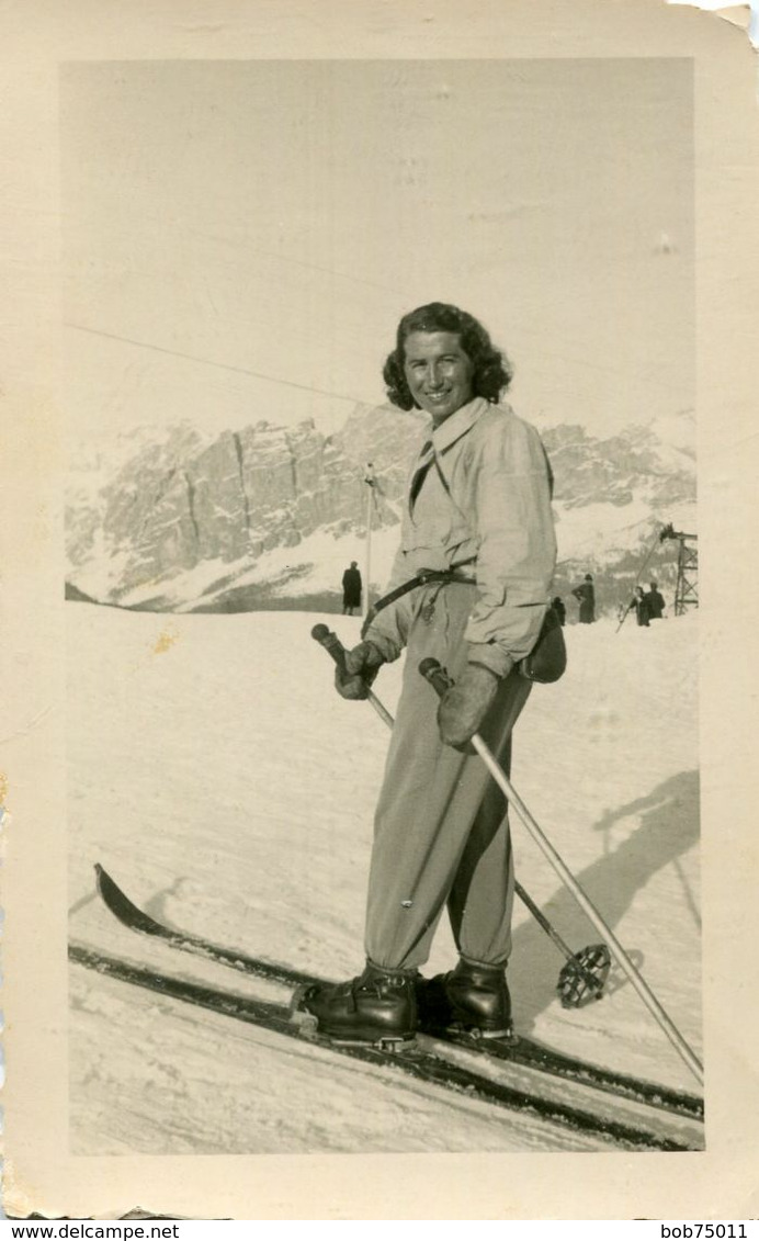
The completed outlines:
<svg viewBox="0 0 759 1241">
<path fill-rule="evenodd" d="M 424 568 L 461 566 L 477 587 L 464 634 L 469 656 L 499 676 L 530 654 L 549 602 L 551 486 L 537 431 L 484 397 L 430 432 L 409 474 L 387 593 Z M 406 645 L 420 593 L 381 611 L 366 633 L 388 661 Z"/>
</svg>

